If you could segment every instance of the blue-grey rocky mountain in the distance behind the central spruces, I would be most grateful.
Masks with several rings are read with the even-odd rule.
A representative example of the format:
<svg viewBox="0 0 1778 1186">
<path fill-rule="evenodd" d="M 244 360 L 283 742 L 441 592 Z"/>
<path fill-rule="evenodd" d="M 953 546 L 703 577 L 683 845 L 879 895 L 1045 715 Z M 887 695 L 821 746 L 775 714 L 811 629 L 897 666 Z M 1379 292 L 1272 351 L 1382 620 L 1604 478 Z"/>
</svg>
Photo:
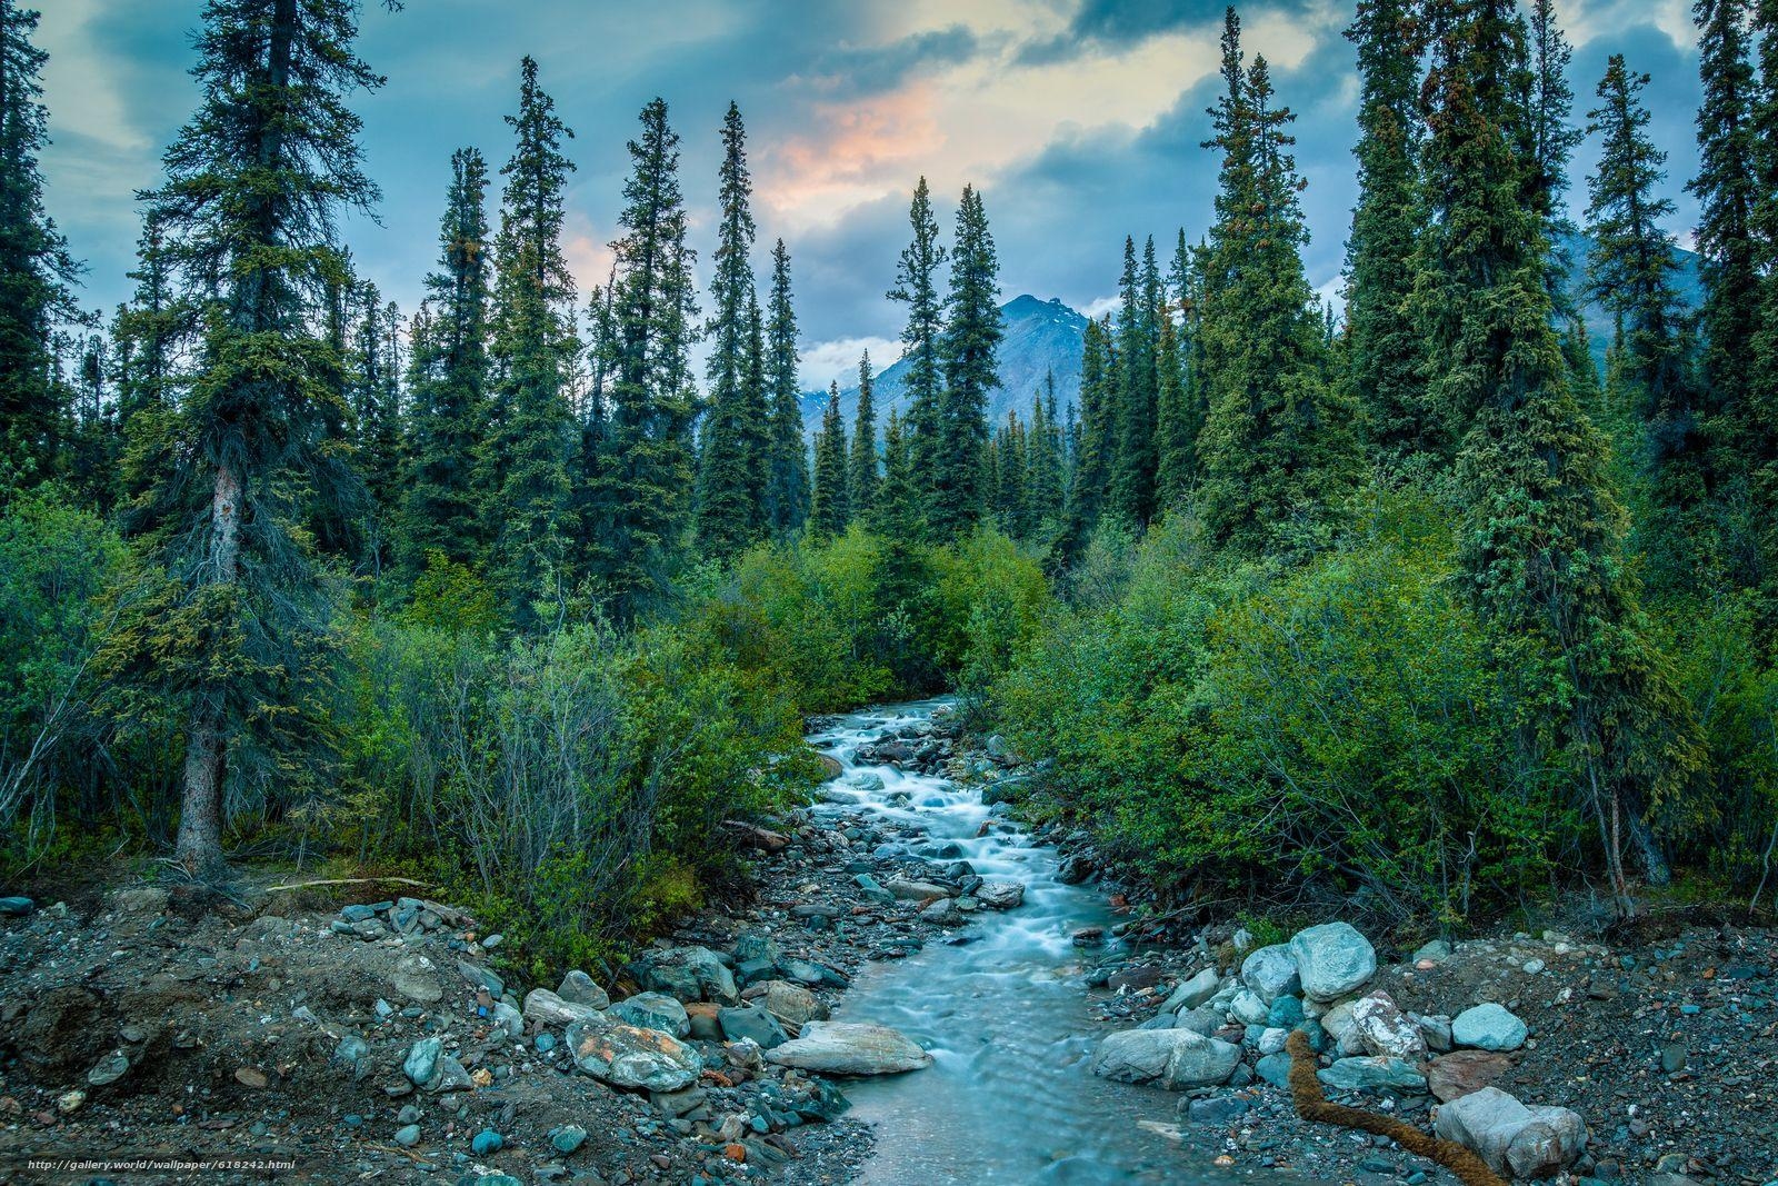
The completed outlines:
<svg viewBox="0 0 1778 1186">
<path fill-rule="evenodd" d="M 1056 375 L 1056 407 L 1081 402 L 1081 343 L 1086 334 L 1086 317 L 1060 301 L 1038 301 L 1031 295 L 1013 297 L 1001 306 L 1006 318 L 1006 336 L 1001 338 L 996 363 L 1001 386 L 989 393 L 989 423 L 999 425 L 1006 411 L 1019 409 L 1019 420 L 1031 420 L 1031 400 L 1044 389 L 1044 375 Z M 877 430 L 894 405 L 907 414 L 903 389 L 907 365 L 896 361 L 877 375 Z M 859 409 L 857 386 L 839 391 L 839 407 L 846 416 L 846 430 Z M 802 397 L 802 423 L 809 432 L 821 423 L 827 409 L 827 391 L 805 391 Z"/>
</svg>

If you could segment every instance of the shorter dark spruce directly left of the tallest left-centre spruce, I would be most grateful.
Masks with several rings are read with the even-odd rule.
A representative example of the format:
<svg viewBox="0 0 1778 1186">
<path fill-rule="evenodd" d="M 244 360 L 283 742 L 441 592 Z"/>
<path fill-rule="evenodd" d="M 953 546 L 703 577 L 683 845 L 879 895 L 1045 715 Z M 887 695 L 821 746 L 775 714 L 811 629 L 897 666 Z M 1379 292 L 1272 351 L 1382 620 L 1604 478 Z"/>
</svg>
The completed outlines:
<svg viewBox="0 0 1778 1186">
<path fill-rule="evenodd" d="M 489 377 L 487 164 L 462 148 L 450 165 L 437 270 L 425 281 L 430 308 L 411 338 L 411 453 L 398 532 L 409 573 L 434 551 L 453 564 L 480 558 L 482 505 L 493 498 L 475 485 Z"/>
</svg>

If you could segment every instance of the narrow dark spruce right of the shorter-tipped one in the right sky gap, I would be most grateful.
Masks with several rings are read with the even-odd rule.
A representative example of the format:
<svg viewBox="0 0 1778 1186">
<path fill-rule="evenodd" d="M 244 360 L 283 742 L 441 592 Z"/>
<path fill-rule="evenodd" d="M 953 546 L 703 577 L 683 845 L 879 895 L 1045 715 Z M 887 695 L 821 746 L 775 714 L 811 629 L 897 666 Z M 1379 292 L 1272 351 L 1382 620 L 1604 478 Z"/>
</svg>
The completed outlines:
<svg viewBox="0 0 1778 1186">
<path fill-rule="evenodd" d="M 1758 453 L 1750 420 L 1753 343 L 1760 324 L 1753 208 L 1758 196 L 1753 108 L 1758 82 L 1748 43 L 1748 0 L 1698 0 L 1698 199 L 1694 249 L 1703 279 L 1702 393 L 1712 485 L 1744 480 Z M 1742 574 L 1748 576 L 1746 573 Z"/>
</svg>

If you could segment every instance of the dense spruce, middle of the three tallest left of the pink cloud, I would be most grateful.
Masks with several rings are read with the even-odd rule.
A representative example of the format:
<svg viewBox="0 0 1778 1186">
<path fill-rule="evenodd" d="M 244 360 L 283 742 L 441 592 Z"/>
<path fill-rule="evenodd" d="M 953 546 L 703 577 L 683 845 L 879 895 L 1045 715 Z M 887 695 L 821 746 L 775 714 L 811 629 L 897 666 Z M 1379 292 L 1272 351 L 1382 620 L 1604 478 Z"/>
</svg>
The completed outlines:
<svg viewBox="0 0 1778 1186">
<path fill-rule="evenodd" d="M 619 621 L 654 606 L 679 562 L 692 457 L 690 349 L 697 297 L 693 252 L 685 244 L 679 196 L 679 135 L 667 103 L 642 108 L 642 133 L 629 142 L 624 236 L 617 252 L 617 333 L 610 464 L 597 500 L 592 573 Z"/>
</svg>

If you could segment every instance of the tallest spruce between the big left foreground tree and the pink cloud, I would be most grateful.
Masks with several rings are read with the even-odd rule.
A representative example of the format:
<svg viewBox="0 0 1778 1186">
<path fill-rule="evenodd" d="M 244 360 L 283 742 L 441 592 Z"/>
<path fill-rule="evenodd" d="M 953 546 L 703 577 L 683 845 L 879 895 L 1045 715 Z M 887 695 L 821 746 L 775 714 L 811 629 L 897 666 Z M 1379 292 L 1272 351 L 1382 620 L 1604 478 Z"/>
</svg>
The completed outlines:
<svg viewBox="0 0 1778 1186">
<path fill-rule="evenodd" d="M 484 445 L 493 500 L 482 507 L 493 574 L 521 628 L 533 603 L 564 576 L 571 409 L 567 370 L 578 352 L 569 333 L 574 277 L 562 254 L 562 192 L 574 164 L 562 155 L 573 132 L 537 84 L 537 62 L 519 64 L 517 135 L 501 174 L 494 238 L 493 427 Z"/>
</svg>

